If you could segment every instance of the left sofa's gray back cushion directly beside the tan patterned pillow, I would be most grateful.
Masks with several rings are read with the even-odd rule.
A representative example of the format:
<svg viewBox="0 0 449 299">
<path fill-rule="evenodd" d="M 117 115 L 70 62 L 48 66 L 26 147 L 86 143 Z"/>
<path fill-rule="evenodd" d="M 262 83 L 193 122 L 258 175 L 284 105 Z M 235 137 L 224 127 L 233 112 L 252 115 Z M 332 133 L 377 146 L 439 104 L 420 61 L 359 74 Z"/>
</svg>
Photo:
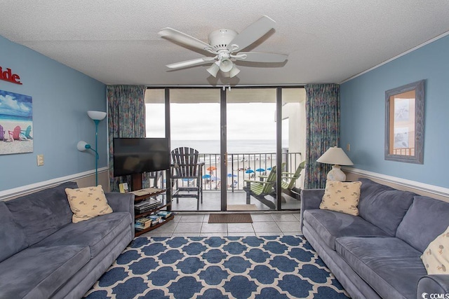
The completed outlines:
<svg viewBox="0 0 449 299">
<path fill-rule="evenodd" d="M 5 202 L 13 214 L 14 221 L 23 228 L 29 244 L 39 242 L 72 222 L 72 211 L 67 202 L 65 188 L 76 188 L 76 183 L 62 183 Z"/>
</svg>

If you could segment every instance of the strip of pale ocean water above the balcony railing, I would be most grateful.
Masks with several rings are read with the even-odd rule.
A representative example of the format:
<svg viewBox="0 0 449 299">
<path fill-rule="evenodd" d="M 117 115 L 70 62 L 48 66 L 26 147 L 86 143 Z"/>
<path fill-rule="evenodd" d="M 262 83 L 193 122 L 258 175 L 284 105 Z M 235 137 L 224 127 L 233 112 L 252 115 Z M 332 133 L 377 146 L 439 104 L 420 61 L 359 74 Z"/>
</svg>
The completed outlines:
<svg viewBox="0 0 449 299">
<path fill-rule="evenodd" d="M 171 148 L 187 146 L 199 153 L 220 153 L 220 140 L 172 140 Z M 228 140 L 228 153 L 276 153 L 276 140 Z"/>
</svg>

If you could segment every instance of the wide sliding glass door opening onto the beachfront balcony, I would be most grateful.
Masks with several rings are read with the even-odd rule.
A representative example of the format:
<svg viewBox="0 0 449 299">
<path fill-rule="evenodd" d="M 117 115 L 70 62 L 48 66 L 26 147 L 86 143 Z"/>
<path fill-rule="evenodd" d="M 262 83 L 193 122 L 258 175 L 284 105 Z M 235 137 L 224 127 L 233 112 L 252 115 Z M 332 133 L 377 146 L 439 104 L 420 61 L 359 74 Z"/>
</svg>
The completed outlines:
<svg viewBox="0 0 449 299">
<path fill-rule="evenodd" d="M 299 209 L 295 193 L 281 187 L 286 186 L 286 174 L 299 167 L 305 150 L 302 94 L 302 88 L 147 90 L 147 137 L 168 137 L 172 150 L 199 151 L 202 202 L 175 198 L 172 209 Z M 173 190 L 197 183 L 192 178 L 165 181 Z M 269 187 L 254 193 L 251 187 L 258 183 Z M 301 180 L 293 185 L 299 192 Z"/>
</svg>

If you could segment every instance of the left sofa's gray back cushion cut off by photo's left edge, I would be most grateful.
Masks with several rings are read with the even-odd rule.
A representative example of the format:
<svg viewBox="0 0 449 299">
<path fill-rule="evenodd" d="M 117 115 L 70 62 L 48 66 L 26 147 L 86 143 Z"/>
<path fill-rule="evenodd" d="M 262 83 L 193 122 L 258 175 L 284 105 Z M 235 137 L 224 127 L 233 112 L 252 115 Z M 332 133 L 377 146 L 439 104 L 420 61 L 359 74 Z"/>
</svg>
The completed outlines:
<svg viewBox="0 0 449 299">
<path fill-rule="evenodd" d="M 25 234 L 13 220 L 4 202 L 0 202 L 0 262 L 28 246 Z"/>
</svg>

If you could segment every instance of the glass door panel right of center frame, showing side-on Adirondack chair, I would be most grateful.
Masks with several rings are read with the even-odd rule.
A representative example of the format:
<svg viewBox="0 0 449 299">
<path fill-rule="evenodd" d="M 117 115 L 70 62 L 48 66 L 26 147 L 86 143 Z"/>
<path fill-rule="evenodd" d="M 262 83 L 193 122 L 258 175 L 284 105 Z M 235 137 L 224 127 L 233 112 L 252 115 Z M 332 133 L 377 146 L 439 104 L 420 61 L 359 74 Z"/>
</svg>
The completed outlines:
<svg viewBox="0 0 449 299">
<path fill-rule="evenodd" d="M 248 181 L 264 186 L 260 181 L 267 181 L 276 165 L 276 89 L 232 88 L 226 97 L 227 209 L 276 209 L 273 188 L 251 193 L 248 201 L 244 190 Z"/>
</svg>

